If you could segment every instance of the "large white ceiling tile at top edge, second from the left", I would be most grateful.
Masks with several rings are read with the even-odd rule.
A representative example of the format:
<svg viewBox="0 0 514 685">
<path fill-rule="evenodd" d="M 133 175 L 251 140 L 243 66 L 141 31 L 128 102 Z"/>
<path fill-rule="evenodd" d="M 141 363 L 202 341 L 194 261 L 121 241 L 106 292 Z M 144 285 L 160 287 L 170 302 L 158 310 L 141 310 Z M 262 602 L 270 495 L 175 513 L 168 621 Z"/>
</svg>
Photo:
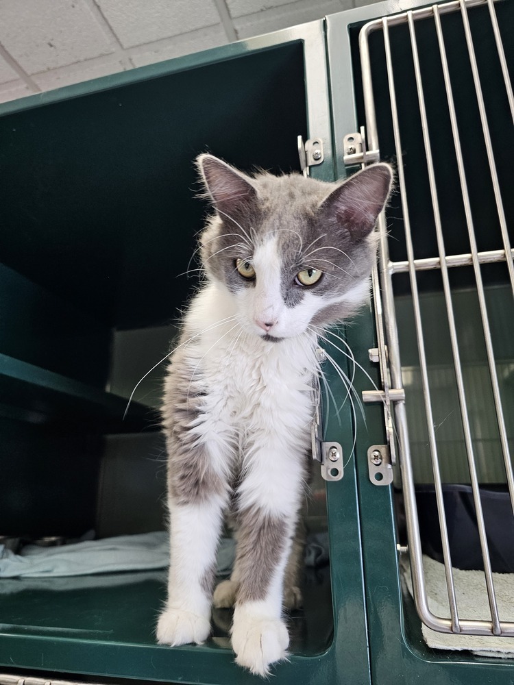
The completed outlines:
<svg viewBox="0 0 514 685">
<path fill-rule="evenodd" d="M 95 0 L 123 47 L 219 24 L 212 0 Z"/>
</svg>

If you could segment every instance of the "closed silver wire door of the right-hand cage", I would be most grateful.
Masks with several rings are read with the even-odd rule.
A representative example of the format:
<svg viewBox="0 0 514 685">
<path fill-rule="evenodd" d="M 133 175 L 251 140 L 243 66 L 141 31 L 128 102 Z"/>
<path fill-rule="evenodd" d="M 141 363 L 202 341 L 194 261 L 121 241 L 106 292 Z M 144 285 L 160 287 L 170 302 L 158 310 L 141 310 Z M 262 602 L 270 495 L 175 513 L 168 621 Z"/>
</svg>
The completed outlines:
<svg viewBox="0 0 514 685">
<path fill-rule="evenodd" d="M 374 297 L 415 605 L 432 630 L 496 636 L 514 636 L 514 617 L 498 610 L 485 513 L 487 492 L 501 492 L 504 544 L 514 549 L 511 8 L 441 3 L 371 21 L 359 37 L 367 147 L 397 165 L 397 193 L 379 220 Z M 445 616 L 427 597 L 420 483 L 434 494 Z M 454 567 L 463 566 L 445 499 L 456 484 L 476 526 L 468 547 L 484 573 L 484 620 L 459 612 Z"/>
</svg>

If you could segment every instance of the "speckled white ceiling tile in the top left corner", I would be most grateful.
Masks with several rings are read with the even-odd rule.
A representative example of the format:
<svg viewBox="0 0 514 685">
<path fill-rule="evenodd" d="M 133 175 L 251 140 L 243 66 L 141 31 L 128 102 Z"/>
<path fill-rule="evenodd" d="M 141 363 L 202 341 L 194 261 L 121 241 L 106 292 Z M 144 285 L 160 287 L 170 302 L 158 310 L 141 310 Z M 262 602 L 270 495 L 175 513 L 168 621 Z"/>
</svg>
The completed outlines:
<svg viewBox="0 0 514 685">
<path fill-rule="evenodd" d="M 0 42 L 29 74 L 112 52 L 84 0 L 0 0 Z"/>
</svg>

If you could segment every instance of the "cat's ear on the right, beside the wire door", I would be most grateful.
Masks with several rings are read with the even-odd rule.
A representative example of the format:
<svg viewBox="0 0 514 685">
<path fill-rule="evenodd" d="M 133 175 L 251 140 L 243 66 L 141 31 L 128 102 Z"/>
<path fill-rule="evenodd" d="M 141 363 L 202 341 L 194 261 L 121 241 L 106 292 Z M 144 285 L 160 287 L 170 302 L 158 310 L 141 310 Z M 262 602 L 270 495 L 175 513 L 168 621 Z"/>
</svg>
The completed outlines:
<svg viewBox="0 0 514 685">
<path fill-rule="evenodd" d="M 319 211 L 326 221 L 345 228 L 354 240 L 374 229 L 393 182 L 389 164 L 373 164 L 359 171 L 323 200 Z"/>
</svg>

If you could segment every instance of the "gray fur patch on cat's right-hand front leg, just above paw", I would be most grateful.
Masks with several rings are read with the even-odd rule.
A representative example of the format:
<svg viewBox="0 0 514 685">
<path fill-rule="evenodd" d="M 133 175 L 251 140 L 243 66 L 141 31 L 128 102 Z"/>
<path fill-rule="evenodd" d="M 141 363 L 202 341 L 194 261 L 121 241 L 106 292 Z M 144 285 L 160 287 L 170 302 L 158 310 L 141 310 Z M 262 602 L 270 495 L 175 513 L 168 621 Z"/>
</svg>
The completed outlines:
<svg viewBox="0 0 514 685">
<path fill-rule="evenodd" d="M 236 565 L 239 573 L 238 603 L 266 597 L 269 580 L 286 545 L 287 527 L 282 519 L 252 508 L 241 512 Z"/>
</svg>

